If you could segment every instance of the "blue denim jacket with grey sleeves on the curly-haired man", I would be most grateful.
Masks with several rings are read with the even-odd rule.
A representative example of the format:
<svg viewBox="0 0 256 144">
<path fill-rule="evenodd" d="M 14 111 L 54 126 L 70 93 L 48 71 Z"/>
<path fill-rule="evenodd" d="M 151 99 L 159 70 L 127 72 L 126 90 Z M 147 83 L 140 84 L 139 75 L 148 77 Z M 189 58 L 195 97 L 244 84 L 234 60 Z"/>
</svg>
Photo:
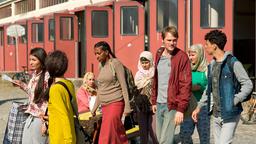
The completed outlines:
<svg viewBox="0 0 256 144">
<path fill-rule="evenodd" d="M 241 102 L 252 90 L 252 82 L 250 81 L 246 71 L 242 67 L 242 64 L 232 57 L 231 61 L 234 61 L 234 73 L 229 70 L 229 66 L 226 63 L 226 57 L 229 52 L 225 53 L 224 60 L 221 64 L 221 71 L 219 75 L 219 96 L 220 96 L 220 108 L 221 118 L 229 119 L 242 112 Z M 208 86 L 205 90 L 200 102 L 199 107 L 202 107 L 206 102 L 208 105 L 208 111 L 211 111 L 211 105 L 213 100 L 212 93 L 212 66 L 215 60 L 208 66 Z M 234 84 L 233 77 L 236 77 L 241 84 L 241 88 Z"/>
</svg>

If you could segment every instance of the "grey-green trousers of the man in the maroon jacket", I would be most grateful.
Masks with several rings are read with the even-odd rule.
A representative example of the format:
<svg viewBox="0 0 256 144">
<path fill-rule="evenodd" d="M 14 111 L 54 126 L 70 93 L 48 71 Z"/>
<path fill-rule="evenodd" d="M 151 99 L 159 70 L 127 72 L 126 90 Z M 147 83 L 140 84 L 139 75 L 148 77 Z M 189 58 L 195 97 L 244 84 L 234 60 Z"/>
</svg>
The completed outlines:
<svg viewBox="0 0 256 144">
<path fill-rule="evenodd" d="M 176 110 L 169 111 L 167 104 L 157 103 L 156 136 L 159 144 L 172 144 L 174 142 L 175 114 Z"/>
</svg>

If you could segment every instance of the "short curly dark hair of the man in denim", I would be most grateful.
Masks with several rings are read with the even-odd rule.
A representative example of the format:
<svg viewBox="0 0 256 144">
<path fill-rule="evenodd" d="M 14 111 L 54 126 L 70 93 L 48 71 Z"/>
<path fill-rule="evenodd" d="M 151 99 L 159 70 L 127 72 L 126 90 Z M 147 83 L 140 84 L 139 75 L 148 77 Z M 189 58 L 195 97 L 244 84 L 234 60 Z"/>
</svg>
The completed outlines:
<svg viewBox="0 0 256 144">
<path fill-rule="evenodd" d="M 204 40 L 208 40 L 212 44 L 216 44 L 221 50 L 224 49 L 227 36 L 220 30 L 212 30 L 204 36 Z"/>
</svg>

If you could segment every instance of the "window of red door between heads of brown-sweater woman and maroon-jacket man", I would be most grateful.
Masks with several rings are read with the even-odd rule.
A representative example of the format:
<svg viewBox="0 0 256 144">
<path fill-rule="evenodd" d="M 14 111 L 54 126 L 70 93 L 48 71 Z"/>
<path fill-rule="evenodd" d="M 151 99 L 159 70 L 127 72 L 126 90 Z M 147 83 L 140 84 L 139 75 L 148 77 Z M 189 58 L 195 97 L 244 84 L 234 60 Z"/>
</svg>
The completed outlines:
<svg viewBox="0 0 256 144">
<path fill-rule="evenodd" d="M 138 7 L 121 7 L 121 35 L 138 35 Z"/>
</svg>

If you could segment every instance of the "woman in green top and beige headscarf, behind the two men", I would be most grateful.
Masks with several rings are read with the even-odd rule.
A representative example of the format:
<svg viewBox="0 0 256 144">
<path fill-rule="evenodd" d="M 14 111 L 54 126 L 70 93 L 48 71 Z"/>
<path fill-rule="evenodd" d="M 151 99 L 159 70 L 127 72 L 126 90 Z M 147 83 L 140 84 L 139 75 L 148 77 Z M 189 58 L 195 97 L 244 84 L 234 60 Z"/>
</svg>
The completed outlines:
<svg viewBox="0 0 256 144">
<path fill-rule="evenodd" d="M 196 97 L 197 101 L 199 101 L 207 85 L 207 60 L 203 45 L 192 45 L 188 49 L 188 56 L 192 69 L 192 93 L 193 96 Z M 188 117 L 181 124 L 180 136 L 183 144 L 193 143 L 191 136 L 194 133 L 195 126 L 197 127 L 199 134 L 200 144 L 209 144 L 210 116 L 208 115 L 206 106 L 201 109 L 197 123 L 195 123 L 191 117 Z"/>
</svg>

